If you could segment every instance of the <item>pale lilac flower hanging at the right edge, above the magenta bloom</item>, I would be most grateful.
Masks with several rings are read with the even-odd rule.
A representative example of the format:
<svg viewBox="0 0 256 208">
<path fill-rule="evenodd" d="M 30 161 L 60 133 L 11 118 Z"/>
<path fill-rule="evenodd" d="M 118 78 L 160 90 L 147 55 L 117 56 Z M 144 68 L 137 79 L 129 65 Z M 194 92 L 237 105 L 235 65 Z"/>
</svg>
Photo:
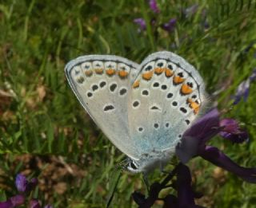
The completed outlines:
<svg viewBox="0 0 256 208">
<path fill-rule="evenodd" d="M 248 79 L 242 81 L 242 83 L 238 85 L 237 92 L 234 95 L 233 104 L 238 104 L 242 97 L 244 101 L 247 100 L 249 96 L 250 83 L 254 80 L 256 80 L 256 69 L 254 69 L 253 73 Z"/>
</svg>

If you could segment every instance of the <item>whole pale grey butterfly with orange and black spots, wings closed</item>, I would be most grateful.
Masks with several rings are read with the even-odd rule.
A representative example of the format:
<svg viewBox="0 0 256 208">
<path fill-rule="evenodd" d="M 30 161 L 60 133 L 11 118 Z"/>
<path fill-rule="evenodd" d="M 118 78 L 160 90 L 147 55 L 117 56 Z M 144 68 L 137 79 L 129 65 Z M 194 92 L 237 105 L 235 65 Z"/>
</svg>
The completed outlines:
<svg viewBox="0 0 256 208">
<path fill-rule="evenodd" d="M 78 57 L 65 73 L 82 107 L 130 158 L 126 170 L 133 173 L 165 167 L 206 105 L 198 71 L 168 51 L 140 65 L 111 55 Z"/>
</svg>

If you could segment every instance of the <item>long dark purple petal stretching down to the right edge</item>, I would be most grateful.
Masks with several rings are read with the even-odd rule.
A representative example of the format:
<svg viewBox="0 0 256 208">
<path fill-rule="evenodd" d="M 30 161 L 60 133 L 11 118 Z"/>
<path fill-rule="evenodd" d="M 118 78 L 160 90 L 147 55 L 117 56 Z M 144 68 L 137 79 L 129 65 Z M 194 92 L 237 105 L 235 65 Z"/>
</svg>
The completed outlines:
<svg viewBox="0 0 256 208">
<path fill-rule="evenodd" d="M 240 167 L 237 163 L 234 163 L 228 156 L 217 147 L 206 146 L 204 150 L 199 152 L 199 155 L 210 163 L 214 163 L 218 167 L 222 167 L 226 171 L 230 171 L 246 182 L 256 183 L 256 168 Z"/>
</svg>

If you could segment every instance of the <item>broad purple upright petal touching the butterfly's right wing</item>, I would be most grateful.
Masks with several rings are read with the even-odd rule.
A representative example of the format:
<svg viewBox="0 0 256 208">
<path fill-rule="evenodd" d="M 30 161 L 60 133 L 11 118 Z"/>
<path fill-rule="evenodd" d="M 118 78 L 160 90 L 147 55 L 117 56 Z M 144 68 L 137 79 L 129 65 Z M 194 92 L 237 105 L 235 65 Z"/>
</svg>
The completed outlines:
<svg viewBox="0 0 256 208">
<path fill-rule="evenodd" d="M 198 154 L 198 150 L 204 147 L 206 141 L 217 135 L 219 128 L 219 112 L 217 108 L 199 118 L 182 136 L 181 143 L 176 147 L 176 155 L 187 163 L 189 159 Z"/>
</svg>

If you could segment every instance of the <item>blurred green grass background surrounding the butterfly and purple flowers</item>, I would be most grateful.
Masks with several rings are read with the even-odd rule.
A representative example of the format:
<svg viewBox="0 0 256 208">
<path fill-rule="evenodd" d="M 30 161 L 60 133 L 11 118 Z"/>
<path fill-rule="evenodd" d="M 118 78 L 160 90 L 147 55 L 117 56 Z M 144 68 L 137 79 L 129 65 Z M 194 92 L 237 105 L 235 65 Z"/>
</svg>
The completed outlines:
<svg viewBox="0 0 256 208">
<path fill-rule="evenodd" d="M 198 11 L 185 17 L 182 10 L 195 3 Z M 0 1 L 0 89 L 10 94 L 0 97 L 1 200 L 17 194 L 14 179 L 19 172 L 51 180 L 42 172 L 55 158 L 62 159 L 62 165 L 75 165 L 82 175 L 55 179 L 66 183 L 63 193 L 54 184 L 48 190 L 39 185 L 34 197 L 54 207 L 106 204 L 114 168 L 123 155 L 86 115 L 67 84 L 63 69 L 75 57 L 115 54 L 139 63 L 150 53 L 170 50 L 199 70 L 207 92 L 222 89 L 212 102 L 218 102 L 219 109 L 228 108 L 238 84 L 255 68 L 256 2 L 159 0 L 158 6 L 161 12 L 154 14 L 142 0 Z M 138 33 L 134 18 L 146 19 L 146 31 Z M 167 33 L 160 25 L 170 18 L 177 18 L 177 24 Z M 209 29 L 204 28 L 205 20 Z M 256 167 L 255 94 L 254 83 L 249 99 L 226 114 L 244 124 L 250 143 L 237 145 L 220 138 L 210 142 L 245 167 Z M 46 162 L 27 171 L 31 161 L 20 159 L 27 154 Z M 198 201 L 202 206 L 256 206 L 253 184 L 200 158 L 189 166 L 195 190 L 204 194 Z M 162 178 L 155 173 L 150 182 Z M 142 176 L 123 173 L 112 206 L 136 207 L 130 197 L 134 190 L 145 191 Z M 160 202 L 155 207 L 161 207 Z"/>
</svg>

